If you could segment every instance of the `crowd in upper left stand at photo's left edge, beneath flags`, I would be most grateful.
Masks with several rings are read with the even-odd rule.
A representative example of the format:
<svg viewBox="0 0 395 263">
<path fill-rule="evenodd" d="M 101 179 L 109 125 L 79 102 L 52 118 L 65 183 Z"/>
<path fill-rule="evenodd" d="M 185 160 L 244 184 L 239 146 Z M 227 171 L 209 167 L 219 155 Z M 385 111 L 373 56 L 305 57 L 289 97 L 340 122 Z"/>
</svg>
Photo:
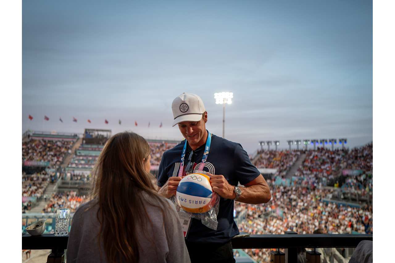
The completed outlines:
<svg viewBox="0 0 395 263">
<path fill-rule="evenodd" d="M 22 143 L 24 161 L 49 162 L 49 168 L 56 168 L 62 163 L 66 153 L 71 153 L 73 141 L 47 141 L 31 139 Z"/>
</svg>

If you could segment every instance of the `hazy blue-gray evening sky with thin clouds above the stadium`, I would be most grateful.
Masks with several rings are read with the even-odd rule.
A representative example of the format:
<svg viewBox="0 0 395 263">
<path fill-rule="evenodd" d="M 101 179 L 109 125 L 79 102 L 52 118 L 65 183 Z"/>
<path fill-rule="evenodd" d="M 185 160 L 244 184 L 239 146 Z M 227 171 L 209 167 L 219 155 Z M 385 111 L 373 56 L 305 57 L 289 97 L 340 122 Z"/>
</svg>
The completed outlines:
<svg viewBox="0 0 395 263">
<path fill-rule="evenodd" d="M 249 153 L 266 139 L 372 141 L 371 1 L 23 1 L 22 15 L 23 130 L 178 139 L 171 102 L 193 92 L 222 135 L 213 94 L 231 91 L 226 138 Z"/>
</svg>

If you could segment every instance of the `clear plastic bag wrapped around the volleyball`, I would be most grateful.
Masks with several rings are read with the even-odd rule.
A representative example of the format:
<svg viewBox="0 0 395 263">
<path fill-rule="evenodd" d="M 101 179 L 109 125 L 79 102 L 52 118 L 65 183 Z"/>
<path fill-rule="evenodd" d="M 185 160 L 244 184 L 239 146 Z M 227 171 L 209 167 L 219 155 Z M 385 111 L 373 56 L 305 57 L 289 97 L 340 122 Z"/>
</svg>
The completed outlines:
<svg viewBox="0 0 395 263">
<path fill-rule="evenodd" d="M 209 176 L 205 171 L 194 171 L 194 173 L 203 173 Z M 206 227 L 213 230 L 217 230 L 218 227 L 217 216 L 218 216 L 219 204 L 220 204 L 220 196 L 218 195 L 218 193 L 213 192 L 211 201 L 209 203 L 209 210 L 203 213 L 191 213 L 185 211 L 184 209 L 182 209 L 181 204 L 179 203 L 179 200 L 176 195 L 173 195 L 171 197 L 171 201 L 173 201 L 173 204 L 175 205 L 177 212 L 184 212 L 186 214 L 189 214 L 190 216 L 192 216 L 192 218 L 200 220 L 201 223 Z"/>
</svg>

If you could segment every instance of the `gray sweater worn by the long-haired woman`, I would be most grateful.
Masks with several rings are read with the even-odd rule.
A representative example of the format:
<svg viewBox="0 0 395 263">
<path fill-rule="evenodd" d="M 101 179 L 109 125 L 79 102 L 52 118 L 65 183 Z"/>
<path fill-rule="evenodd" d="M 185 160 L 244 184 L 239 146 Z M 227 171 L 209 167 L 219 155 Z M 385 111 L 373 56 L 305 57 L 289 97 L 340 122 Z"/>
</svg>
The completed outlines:
<svg viewBox="0 0 395 263">
<path fill-rule="evenodd" d="M 145 195 L 147 198 L 151 198 L 148 194 Z M 146 205 L 147 213 L 154 226 L 146 231 L 146 233 L 150 233 L 150 237 L 143 233 L 141 227 L 136 227 L 140 244 L 139 262 L 141 263 L 190 263 L 178 214 L 174 205 L 169 200 L 167 201 L 171 205 L 171 218 L 163 218 L 160 210 L 152 205 Z M 87 210 L 91 205 L 93 207 Z M 102 257 L 100 257 L 97 242 L 97 235 L 100 229 L 96 216 L 98 208 L 99 206 L 96 202 L 90 201 L 81 205 L 75 212 L 67 244 L 67 263 L 107 263 L 103 242 L 100 242 Z M 150 224 L 147 225 L 150 227 Z M 153 240 L 153 243 L 151 240 Z M 108 241 L 111 242 L 111 240 Z"/>
</svg>

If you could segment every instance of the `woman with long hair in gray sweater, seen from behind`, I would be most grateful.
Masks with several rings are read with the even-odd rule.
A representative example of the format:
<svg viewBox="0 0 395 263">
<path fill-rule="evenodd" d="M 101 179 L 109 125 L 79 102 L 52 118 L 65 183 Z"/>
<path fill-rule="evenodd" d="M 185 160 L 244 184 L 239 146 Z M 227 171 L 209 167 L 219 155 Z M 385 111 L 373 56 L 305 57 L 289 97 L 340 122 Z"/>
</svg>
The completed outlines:
<svg viewBox="0 0 395 263">
<path fill-rule="evenodd" d="M 105 144 L 93 170 L 92 200 L 73 216 L 67 262 L 190 262 L 171 202 L 155 191 L 150 147 L 132 132 Z"/>
</svg>

